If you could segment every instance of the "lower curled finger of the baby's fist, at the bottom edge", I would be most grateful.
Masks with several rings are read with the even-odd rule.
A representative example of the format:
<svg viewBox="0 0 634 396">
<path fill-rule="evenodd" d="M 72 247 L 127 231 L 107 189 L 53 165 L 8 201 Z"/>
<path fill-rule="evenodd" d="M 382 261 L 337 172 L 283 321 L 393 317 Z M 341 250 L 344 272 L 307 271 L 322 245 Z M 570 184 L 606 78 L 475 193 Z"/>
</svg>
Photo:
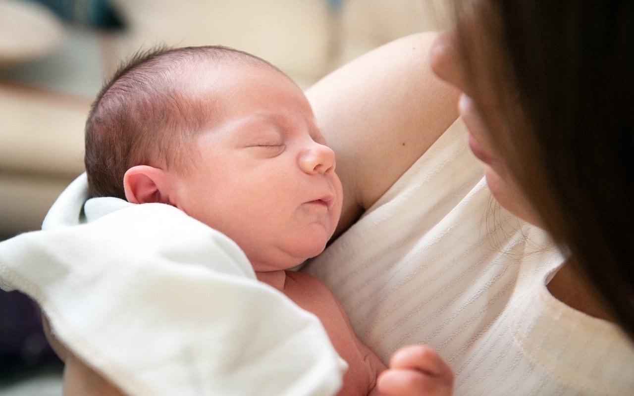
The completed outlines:
<svg viewBox="0 0 634 396">
<path fill-rule="evenodd" d="M 377 388 L 385 396 L 451 395 L 452 387 L 415 369 L 387 369 L 377 379 Z"/>
</svg>

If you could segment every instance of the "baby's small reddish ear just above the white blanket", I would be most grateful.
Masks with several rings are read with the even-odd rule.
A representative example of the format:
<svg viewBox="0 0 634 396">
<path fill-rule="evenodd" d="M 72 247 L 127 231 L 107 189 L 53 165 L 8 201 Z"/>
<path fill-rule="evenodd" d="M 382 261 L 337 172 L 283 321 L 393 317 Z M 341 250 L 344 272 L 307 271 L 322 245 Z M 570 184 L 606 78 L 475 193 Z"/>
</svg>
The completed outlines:
<svg viewBox="0 0 634 396">
<path fill-rule="evenodd" d="M 126 200 L 131 203 L 167 203 L 169 200 L 169 177 L 164 170 L 148 165 L 136 165 L 123 177 Z"/>
</svg>

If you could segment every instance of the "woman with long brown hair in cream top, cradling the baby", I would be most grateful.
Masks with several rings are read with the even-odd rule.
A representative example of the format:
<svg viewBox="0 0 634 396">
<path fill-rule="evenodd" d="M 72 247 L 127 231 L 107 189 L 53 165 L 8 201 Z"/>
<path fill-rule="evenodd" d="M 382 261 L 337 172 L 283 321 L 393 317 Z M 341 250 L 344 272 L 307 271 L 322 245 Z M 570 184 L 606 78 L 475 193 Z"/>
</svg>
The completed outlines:
<svg viewBox="0 0 634 396">
<path fill-rule="evenodd" d="M 634 6 L 482 0 L 457 20 L 307 91 L 344 205 L 304 271 L 385 363 L 434 348 L 456 395 L 631 393 Z"/>
</svg>

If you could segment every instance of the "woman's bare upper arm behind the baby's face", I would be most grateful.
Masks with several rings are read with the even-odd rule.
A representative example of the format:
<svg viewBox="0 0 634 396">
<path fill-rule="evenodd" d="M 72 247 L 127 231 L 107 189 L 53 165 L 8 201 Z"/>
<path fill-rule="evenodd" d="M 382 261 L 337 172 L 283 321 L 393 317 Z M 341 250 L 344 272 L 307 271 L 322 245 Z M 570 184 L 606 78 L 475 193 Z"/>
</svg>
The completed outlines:
<svg viewBox="0 0 634 396">
<path fill-rule="evenodd" d="M 456 120 L 458 91 L 432 72 L 436 34 L 403 37 L 330 73 L 307 92 L 337 154 L 347 229 Z"/>
</svg>

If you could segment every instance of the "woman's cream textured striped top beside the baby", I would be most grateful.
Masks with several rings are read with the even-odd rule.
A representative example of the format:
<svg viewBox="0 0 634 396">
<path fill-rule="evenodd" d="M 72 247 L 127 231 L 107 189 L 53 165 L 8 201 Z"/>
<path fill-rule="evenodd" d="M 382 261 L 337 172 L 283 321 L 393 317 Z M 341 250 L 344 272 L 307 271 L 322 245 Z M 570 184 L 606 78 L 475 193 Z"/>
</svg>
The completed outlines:
<svg viewBox="0 0 634 396">
<path fill-rule="evenodd" d="M 456 395 L 628 395 L 634 348 L 552 297 L 562 256 L 500 208 L 458 121 L 304 271 L 320 278 L 387 363 L 427 343 Z"/>
</svg>

